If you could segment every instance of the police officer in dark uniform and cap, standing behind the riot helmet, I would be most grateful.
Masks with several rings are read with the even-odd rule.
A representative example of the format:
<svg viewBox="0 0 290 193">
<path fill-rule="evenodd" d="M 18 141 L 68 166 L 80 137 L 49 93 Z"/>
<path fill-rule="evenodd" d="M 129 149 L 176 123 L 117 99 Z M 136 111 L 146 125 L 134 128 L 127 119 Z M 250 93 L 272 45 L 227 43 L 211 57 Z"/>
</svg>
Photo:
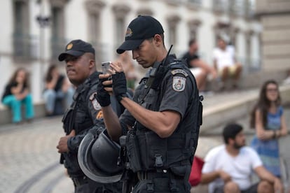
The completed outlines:
<svg viewBox="0 0 290 193">
<path fill-rule="evenodd" d="M 66 62 L 67 76 L 76 87 L 74 101 L 62 119 L 66 136 L 60 138 L 57 145 L 61 153 L 60 163 L 67 168 L 75 192 L 120 192 L 120 183 L 96 183 L 87 178 L 78 165 L 78 145 L 85 134 L 88 131 L 99 134 L 104 130 L 101 106 L 95 99 L 99 83 L 95 49 L 90 43 L 74 40 L 67 44 L 58 59 Z"/>
</svg>

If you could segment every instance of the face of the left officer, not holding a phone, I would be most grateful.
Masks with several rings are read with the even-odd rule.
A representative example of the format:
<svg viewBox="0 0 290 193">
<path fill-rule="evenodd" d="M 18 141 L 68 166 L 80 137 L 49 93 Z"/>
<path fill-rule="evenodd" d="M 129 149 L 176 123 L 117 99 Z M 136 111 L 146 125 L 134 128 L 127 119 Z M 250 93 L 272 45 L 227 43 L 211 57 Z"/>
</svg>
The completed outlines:
<svg viewBox="0 0 290 193">
<path fill-rule="evenodd" d="M 87 53 L 80 57 L 67 55 L 65 62 L 67 77 L 73 85 L 81 85 L 90 76 L 90 58 Z"/>
</svg>

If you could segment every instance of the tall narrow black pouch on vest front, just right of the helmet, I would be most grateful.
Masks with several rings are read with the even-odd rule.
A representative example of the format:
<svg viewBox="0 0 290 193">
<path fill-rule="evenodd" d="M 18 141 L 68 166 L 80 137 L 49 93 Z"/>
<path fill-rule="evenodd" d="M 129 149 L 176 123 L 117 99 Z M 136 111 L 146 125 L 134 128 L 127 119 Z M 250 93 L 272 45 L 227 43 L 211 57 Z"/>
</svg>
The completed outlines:
<svg viewBox="0 0 290 193">
<path fill-rule="evenodd" d="M 141 171 L 140 150 L 137 143 L 137 137 L 134 131 L 129 131 L 127 135 L 127 157 L 129 159 L 129 168 L 133 172 Z"/>
</svg>

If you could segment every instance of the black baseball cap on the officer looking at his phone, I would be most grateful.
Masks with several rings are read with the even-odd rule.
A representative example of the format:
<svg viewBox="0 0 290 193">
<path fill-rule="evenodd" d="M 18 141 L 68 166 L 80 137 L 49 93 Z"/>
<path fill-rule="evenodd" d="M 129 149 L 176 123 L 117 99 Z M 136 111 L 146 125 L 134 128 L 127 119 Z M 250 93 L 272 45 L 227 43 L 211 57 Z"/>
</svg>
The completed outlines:
<svg viewBox="0 0 290 193">
<path fill-rule="evenodd" d="M 127 27 L 125 41 L 117 49 L 118 54 L 125 50 L 136 49 L 144 40 L 155 34 L 163 34 L 164 30 L 160 22 L 149 15 L 139 15 Z"/>
</svg>

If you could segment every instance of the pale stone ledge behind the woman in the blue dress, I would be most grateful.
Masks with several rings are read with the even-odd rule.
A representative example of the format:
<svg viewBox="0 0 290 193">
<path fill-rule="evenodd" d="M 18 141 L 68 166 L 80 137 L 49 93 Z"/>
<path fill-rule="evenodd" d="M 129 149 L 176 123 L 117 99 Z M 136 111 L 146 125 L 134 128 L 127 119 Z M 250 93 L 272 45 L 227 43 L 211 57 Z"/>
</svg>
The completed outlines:
<svg viewBox="0 0 290 193">
<path fill-rule="evenodd" d="M 289 103 L 290 85 L 281 85 L 279 90 L 282 103 Z M 258 92 L 254 89 L 205 96 L 200 133 L 249 115 L 258 100 Z"/>
</svg>

